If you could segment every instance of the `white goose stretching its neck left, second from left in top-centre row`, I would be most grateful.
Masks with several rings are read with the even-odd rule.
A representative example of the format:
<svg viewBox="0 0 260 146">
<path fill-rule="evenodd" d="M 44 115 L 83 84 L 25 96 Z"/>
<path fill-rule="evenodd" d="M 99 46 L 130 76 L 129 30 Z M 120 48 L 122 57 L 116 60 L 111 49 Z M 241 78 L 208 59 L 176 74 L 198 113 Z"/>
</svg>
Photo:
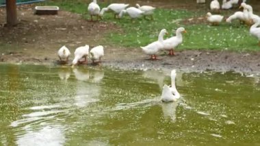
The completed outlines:
<svg viewBox="0 0 260 146">
<path fill-rule="evenodd" d="M 112 3 L 110 5 L 107 6 L 107 8 L 103 8 L 100 12 L 100 15 L 103 16 L 103 14 L 105 12 L 107 12 L 108 10 L 114 12 L 114 18 L 116 19 L 116 16 L 118 16 L 118 14 L 122 11 L 125 10 L 125 8 L 128 7 L 129 4 L 125 4 L 125 3 Z"/>
</svg>

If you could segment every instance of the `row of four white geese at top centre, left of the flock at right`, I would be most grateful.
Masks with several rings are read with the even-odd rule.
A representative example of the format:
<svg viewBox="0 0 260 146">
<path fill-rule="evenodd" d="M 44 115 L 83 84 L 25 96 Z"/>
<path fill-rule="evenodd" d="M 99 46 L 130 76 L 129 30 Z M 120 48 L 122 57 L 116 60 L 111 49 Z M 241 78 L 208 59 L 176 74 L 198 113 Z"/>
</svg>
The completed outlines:
<svg viewBox="0 0 260 146">
<path fill-rule="evenodd" d="M 88 5 L 88 12 L 91 17 L 91 21 L 93 21 L 92 16 L 96 16 L 96 20 L 103 16 L 103 14 L 107 11 L 112 11 L 114 13 L 114 18 L 118 17 L 121 18 L 123 14 L 129 14 L 131 19 L 139 18 L 140 16 L 151 16 L 151 19 L 153 19 L 153 11 L 155 10 L 154 7 L 150 5 L 142 5 L 142 7 L 137 3 L 135 7 L 127 8 L 129 4 L 125 3 L 112 3 L 107 6 L 107 8 L 101 8 L 96 3 L 96 0 L 93 0 Z"/>
</svg>

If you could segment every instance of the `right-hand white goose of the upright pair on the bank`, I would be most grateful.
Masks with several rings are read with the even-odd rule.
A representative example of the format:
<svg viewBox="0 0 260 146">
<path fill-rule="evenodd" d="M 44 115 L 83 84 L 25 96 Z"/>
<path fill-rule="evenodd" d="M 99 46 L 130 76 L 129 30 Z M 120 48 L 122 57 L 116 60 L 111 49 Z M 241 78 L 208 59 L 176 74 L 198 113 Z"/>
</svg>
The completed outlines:
<svg viewBox="0 0 260 146">
<path fill-rule="evenodd" d="M 171 38 L 164 40 L 164 49 L 169 50 L 170 56 L 174 56 L 173 49 L 178 47 L 183 42 L 182 33 L 186 33 L 186 30 L 183 27 L 179 27 L 176 30 L 176 36 L 172 36 Z"/>
</svg>

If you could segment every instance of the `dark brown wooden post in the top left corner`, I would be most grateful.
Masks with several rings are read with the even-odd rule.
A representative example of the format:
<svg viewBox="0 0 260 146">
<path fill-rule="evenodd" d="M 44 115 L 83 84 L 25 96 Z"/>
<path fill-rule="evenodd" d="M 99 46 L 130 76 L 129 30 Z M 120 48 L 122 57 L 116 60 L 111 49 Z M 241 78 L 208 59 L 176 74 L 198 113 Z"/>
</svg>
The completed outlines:
<svg viewBox="0 0 260 146">
<path fill-rule="evenodd" d="M 16 0 L 6 1 L 6 19 L 8 26 L 17 25 L 17 10 L 16 10 Z"/>
</svg>

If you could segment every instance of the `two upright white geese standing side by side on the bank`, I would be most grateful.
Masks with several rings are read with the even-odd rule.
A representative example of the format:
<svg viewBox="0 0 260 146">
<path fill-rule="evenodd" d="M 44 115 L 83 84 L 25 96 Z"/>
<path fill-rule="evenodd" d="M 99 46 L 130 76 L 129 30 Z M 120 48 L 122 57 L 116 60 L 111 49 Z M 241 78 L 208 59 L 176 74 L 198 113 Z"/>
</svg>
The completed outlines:
<svg viewBox="0 0 260 146">
<path fill-rule="evenodd" d="M 174 49 L 180 45 L 183 42 L 183 36 L 182 33 L 186 33 L 185 28 L 179 27 L 176 30 L 176 36 L 172 36 L 171 38 L 168 38 L 164 40 L 164 35 L 167 34 L 166 29 L 161 29 L 161 32 L 159 33 L 158 40 L 155 42 L 152 42 L 145 47 L 141 47 L 144 53 L 151 56 L 152 60 L 156 60 L 156 55 L 159 53 L 160 50 L 168 50 L 169 55 L 174 55 Z"/>
</svg>

